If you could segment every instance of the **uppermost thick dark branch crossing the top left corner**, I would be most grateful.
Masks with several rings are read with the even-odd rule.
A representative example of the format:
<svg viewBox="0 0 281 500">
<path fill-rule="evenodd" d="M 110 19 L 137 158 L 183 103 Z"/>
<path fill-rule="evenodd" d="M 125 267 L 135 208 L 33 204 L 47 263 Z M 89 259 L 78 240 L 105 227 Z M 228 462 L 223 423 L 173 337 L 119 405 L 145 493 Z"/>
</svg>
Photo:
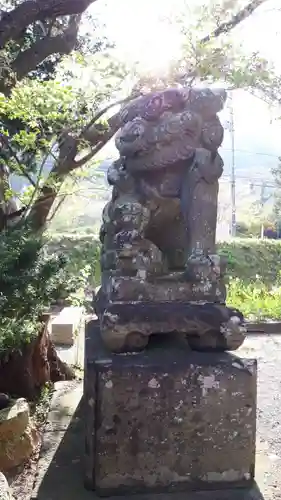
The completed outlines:
<svg viewBox="0 0 281 500">
<path fill-rule="evenodd" d="M 0 20 L 0 48 L 35 21 L 82 14 L 95 0 L 25 0 Z"/>
</svg>

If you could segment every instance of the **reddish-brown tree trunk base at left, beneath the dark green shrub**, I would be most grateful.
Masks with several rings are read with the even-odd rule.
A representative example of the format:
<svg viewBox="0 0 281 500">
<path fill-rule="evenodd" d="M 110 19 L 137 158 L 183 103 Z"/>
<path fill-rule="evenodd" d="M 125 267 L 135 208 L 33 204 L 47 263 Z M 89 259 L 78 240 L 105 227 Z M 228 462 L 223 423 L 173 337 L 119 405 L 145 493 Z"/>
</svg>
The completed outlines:
<svg viewBox="0 0 281 500">
<path fill-rule="evenodd" d="M 42 316 L 43 326 L 30 344 L 0 356 L 0 392 L 32 400 L 46 383 L 74 378 L 72 369 L 56 353 L 48 332 L 49 319 L 50 315 Z"/>
</svg>

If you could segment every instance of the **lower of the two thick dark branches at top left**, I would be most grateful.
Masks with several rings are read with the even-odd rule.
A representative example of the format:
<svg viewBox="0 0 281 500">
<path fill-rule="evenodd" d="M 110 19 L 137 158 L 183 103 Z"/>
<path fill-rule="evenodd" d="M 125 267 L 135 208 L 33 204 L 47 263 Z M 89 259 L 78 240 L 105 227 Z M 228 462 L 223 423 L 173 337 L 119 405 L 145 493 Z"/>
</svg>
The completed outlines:
<svg viewBox="0 0 281 500">
<path fill-rule="evenodd" d="M 35 42 L 29 49 L 20 52 L 12 63 L 17 79 L 22 80 L 30 71 L 52 54 L 69 54 L 75 47 L 81 15 L 73 15 L 67 28 L 55 37 L 46 36 Z"/>
</svg>

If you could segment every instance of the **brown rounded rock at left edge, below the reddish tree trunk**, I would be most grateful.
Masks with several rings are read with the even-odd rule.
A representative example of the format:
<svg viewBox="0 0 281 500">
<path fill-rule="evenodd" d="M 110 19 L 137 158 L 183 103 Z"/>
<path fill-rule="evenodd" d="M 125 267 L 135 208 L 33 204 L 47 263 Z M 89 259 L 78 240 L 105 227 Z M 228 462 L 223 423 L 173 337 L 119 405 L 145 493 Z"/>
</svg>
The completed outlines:
<svg viewBox="0 0 281 500">
<path fill-rule="evenodd" d="M 0 411 L 0 470 L 7 472 L 25 462 L 40 441 L 25 399 Z"/>
</svg>

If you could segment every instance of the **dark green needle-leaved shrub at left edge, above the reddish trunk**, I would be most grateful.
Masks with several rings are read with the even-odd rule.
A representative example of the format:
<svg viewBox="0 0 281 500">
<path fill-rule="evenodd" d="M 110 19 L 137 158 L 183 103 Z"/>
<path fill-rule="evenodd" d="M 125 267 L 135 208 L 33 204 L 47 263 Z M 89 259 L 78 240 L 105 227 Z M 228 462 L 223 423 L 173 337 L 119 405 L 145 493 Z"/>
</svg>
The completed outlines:
<svg viewBox="0 0 281 500">
<path fill-rule="evenodd" d="M 66 259 L 47 257 L 43 244 L 27 226 L 0 235 L 0 350 L 30 342 L 40 315 L 59 298 Z"/>
</svg>

